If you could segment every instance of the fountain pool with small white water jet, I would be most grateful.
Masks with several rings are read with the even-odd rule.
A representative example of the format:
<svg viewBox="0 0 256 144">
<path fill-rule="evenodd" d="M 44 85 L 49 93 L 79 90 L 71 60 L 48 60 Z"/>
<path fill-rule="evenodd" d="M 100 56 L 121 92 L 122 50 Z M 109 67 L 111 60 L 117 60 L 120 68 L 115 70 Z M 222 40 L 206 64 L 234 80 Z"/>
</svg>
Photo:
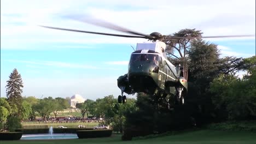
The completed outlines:
<svg viewBox="0 0 256 144">
<path fill-rule="evenodd" d="M 49 139 L 78 139 L 77 134 L 54 134 L 53 127 L 49 128 L 48 134 L 22 135 L 21 140 L 49 140 Z"/>
</svg>

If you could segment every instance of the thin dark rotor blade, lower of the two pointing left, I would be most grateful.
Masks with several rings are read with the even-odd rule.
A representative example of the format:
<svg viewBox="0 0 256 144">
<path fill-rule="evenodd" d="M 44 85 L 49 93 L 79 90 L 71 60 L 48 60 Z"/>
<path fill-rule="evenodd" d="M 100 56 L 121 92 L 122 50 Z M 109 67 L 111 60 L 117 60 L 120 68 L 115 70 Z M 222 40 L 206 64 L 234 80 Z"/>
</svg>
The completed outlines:
<svg viewBox="0 0 256 144">
<path fill-rule="evenodd" d="M 110 35 L 110 36 L 115 36 L 115 37 L 146 38 L 146 39 L 148 39 L 148 37 L 138 36 L 138 35 L 124 35 L 124 34 L 112 34 L 112 33 L 99 33 L 99 32 L 80 31 L 80 30 L 76 30 L 76 29 L 67 29 L 67 28 L 59 28 L 59 27 L 48 27 L 48 26 L 40 26 L 40 27 L 51 28 L 51 29 L 59 29 L 59 30 L 71 31 L 71 32 L 81 32 L 81 33 L 92 33 L 92 34 Z"/>
</svg>

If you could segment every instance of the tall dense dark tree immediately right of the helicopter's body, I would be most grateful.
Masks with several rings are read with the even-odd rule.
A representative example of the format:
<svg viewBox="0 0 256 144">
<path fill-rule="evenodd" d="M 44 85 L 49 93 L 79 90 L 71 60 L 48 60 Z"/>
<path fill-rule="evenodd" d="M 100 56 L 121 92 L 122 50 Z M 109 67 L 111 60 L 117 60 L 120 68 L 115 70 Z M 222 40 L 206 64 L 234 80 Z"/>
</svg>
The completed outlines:
<svg viewBox="0 0 256 144">
<path fill-rule="evenodd" d="M 191 106 L 192 117 L 197 125 L 213 121 L 214 105 L 209 92 L 210 83 L 222 73 L 224 62 L 219 58 L 216 44 L 203 40 L 191 42 L 189 54 L 189 91 L 187 104 Z"/>
</svg>

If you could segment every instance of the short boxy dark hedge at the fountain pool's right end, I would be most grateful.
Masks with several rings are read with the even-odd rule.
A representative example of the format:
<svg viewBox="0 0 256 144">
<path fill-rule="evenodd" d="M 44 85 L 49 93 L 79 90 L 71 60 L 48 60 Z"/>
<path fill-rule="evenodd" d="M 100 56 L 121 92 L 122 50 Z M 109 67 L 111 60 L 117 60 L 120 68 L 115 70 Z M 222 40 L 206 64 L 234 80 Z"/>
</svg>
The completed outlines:
<svg viewBox="0 0 256 144">
<path fill-rule="evenodd" d="M 109 137 L 112 135 L 112 131 L 110 129 L 107 130 L 78 130 L 77 136 L 79 139 L 86 139 L 92 137 Z"/>
</svg>

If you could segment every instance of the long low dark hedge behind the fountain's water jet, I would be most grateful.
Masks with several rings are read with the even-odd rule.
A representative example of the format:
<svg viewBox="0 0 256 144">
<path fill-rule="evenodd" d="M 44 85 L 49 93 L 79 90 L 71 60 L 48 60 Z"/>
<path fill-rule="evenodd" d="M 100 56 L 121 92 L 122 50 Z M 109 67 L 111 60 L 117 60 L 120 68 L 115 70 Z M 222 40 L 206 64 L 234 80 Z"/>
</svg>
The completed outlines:
<svg viewBox="0 0 256 144">
<path fill-rule="evenodd" d="M 77 130 L 92 130 L 93 128 L 54 128 L 53 133 L 77 133 Z M 16 129 L 23 134 L 48 134 L 49 129 Z"/>
</svg>

